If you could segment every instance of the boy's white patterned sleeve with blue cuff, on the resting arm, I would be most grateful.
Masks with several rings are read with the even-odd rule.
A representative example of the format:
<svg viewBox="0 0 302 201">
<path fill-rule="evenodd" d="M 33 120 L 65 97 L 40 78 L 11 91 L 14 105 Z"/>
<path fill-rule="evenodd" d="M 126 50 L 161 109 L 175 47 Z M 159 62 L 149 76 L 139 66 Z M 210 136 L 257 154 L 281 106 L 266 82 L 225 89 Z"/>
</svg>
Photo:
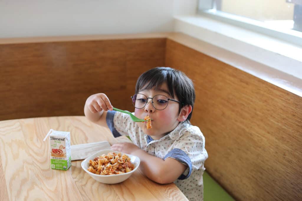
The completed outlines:
<svg viewBox="0 0 302 201">
<path fill-rule="evenodd" d="M 164 157 L 174 158 L 188 166 L 186 175 L 182 174 L 178 179 L 190 177 L 193 169 L 204 168 L 204 161 L 208 158 L 204 148 L 204 136 L 198 135 L 194 130 L 184 131 L 184 136 L 176 140 L 171 151 Z"/>
</svg>

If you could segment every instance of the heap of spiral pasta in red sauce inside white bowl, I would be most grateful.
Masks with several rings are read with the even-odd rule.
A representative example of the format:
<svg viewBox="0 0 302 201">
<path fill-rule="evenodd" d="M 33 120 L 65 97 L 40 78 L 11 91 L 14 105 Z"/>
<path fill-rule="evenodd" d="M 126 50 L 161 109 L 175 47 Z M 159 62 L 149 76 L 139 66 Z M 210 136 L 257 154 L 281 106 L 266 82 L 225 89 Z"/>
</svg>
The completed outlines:
<svg viewBox="0 0 302 201">
<path fill-rule="evenodd" d="M 90 160 L 87 170 L 99 175 L 113 175 L 127 173 L 133 169 L 134 165 L 126 154 L 110 152 Z"/>
</svg>

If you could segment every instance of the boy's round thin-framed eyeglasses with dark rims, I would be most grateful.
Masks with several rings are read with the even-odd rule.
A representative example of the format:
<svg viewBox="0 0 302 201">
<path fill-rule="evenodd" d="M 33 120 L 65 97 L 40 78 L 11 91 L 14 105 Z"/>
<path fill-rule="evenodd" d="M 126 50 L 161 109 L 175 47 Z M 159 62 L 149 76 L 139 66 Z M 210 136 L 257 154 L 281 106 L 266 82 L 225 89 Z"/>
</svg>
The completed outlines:
<svg viewBox="0 0 302 201">
<path fill-rule="evenodd" d="M 144 94 L 134 94 L 133 96 L 131 96 L 131 99 L 132 104 L 135 108 L 142 109 L 146 106 L 149 98 L 147 98 Z M 164 110 L 168 106 L 169 101 L 174 101 L 182 104 L 181 102 L 168 98 L 165 95 L 155 95 L 150 99 L 152 100 L 151 103 L 156 110 Z"/>
</svg>

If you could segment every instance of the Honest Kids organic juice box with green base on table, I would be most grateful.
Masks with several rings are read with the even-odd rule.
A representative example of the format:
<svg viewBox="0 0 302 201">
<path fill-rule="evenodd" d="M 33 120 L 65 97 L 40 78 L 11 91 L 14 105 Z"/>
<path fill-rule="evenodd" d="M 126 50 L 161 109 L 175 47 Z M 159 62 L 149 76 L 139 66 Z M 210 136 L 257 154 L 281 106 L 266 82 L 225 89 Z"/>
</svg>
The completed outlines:
<svg viewBox="0 0 302 201">
<path fill-rule="evenodd" d="M 52 130 L 49 142 L 51 168 L 67 170 L 71 166 L 70 132 Z"/>
</svg>

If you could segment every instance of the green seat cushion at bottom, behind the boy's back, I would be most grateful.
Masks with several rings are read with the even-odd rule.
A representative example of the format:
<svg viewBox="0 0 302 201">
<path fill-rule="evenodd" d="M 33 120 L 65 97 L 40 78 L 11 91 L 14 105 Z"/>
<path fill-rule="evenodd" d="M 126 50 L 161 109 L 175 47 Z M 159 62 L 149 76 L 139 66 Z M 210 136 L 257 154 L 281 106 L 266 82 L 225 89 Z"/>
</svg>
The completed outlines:
<svg viewBox="0 0 302 201">
<path fill-rule="evenodd" d="M 204 201 L 234 201 L 208 173 L 204 171 Z"/>
</svg>

